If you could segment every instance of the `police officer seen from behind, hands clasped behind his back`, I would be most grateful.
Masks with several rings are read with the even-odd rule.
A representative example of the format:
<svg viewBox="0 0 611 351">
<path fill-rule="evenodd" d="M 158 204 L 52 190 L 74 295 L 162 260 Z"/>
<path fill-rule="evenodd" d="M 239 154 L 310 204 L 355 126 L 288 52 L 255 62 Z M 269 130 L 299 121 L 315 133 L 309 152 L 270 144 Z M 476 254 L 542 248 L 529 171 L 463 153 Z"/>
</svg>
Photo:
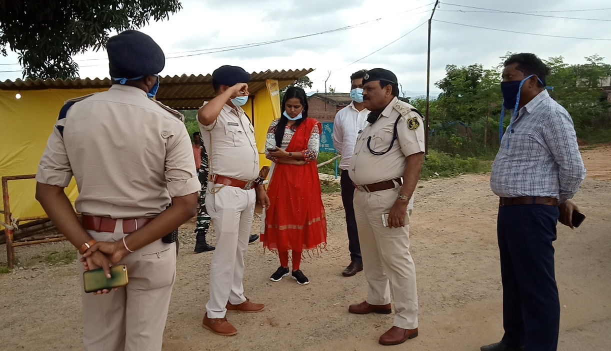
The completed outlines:
<svg viewBox="0 0 611 351">
<path fill-rule="evenodd" d="M 150 99 L 165 64 L 161 48 L 125 31 L 106 50 L 113 85 L 62 108 L 36 198 L 84 254 L 84 270 L 101 267 L 110 277 L 111 265 L 128 268 L 127 286 L 82 294 L 85 349 L 161 350 L 178 244 L 166 234 L 195 215 L 201 186 L 183 116 Z M 72 176 L 82 224 L 64 194 Z"/>
</svg>

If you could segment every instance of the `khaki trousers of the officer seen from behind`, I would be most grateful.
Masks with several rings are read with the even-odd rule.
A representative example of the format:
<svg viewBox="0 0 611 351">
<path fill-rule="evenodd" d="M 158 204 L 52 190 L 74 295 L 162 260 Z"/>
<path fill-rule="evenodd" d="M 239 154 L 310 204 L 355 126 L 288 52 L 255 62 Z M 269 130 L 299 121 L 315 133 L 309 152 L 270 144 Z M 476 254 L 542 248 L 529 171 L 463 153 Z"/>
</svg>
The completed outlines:
<svg viewBox="0 0 611 351">
<path fill-rule="evenodd" d="M 120 241 L 125 236 L 122 220 L 117 220 L 114 233 L 87 233 L 97 241 Z M 127 286 L 102 295 L 82 293 L 86 351 L 161 350 L 176 278 L 176 244 L 159 239 L 125 256 L 119 263 L 127 265 Z M 82 287 L 80 262 L 79 271 Z"/>
</svg>

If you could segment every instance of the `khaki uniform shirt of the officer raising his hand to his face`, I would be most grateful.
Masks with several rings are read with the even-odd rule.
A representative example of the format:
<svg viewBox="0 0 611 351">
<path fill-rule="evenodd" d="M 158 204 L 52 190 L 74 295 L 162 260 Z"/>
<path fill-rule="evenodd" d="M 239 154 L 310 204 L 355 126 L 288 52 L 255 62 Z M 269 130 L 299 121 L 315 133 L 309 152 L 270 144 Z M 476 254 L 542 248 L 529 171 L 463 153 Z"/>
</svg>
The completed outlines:
<svg viewBox="0 0 611 351">
<path fill-rule="evenodd" d="M 208 151 L 211 175 L 222 175 L 243 181 L 259 176 L 259 153 L 255 128 L 241 107 L 225 104 L 221 114 L 210 125 L 199 123 L 203 145 Z"/>
</svg>

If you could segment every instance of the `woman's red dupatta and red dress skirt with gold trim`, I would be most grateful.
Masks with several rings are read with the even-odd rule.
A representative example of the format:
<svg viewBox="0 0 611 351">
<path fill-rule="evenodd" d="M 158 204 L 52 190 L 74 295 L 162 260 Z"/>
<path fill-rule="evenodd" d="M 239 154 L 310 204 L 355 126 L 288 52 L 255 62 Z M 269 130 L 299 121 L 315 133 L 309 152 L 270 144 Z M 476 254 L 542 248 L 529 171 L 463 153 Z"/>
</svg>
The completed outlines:
<svg viewBox="0 0 611 351">
<path fill-rule="evenodd" d="M 288 144 L 288 152 L 307 150 L 313 129 L 321 124 L 307 118 Z M 271 251 L 304 251 L 324 248 L 327 220 L 321 197 L 316 160 L 304 165 L 277 163 L 269 182 L 270 206 L 265 212 L 263 247 Z"/>
</svg>

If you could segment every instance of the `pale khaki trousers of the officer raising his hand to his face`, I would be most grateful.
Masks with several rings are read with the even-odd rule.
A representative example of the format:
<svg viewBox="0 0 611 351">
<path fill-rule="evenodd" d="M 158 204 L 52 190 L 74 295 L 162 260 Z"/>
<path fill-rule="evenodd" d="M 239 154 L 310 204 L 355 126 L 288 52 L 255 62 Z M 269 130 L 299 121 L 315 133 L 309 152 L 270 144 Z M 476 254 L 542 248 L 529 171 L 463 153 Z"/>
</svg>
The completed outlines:
<svg viewBox="0 0 611 351">
<path fill-rule="evenodd" d="M 210 265 L 210 300 L 206 304 L 208 318 L 225 317 L 227 302 L 238 305 L 246 301 L 242 284 L 244 255 L 256 198 L 254 189 L 208 183 L 206 209 L 216 233 L 216 250 Z"/>
</svg>

